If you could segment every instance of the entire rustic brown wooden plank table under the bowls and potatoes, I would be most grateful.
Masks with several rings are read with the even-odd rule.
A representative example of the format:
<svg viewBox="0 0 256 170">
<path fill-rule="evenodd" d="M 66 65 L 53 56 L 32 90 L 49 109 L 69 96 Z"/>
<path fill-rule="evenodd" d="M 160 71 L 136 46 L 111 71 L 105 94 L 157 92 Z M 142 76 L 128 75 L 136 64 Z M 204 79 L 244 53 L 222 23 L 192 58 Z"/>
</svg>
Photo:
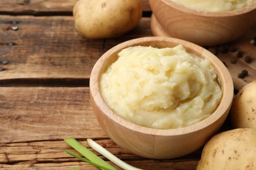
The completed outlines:
<svg viewBox="0 0 256 170">
<path fill-rule="evenodd" d="M 143 1 L 140 24 L 116 39 L 89 40 L 77 34 L 75 0 L 2 0 L 0 3 L 0 168 L 96 169 L 63 152 L 74 137 L 88 146 L 92 138 L 121 160 L 142 169 L 195 169 L 202 149 L 172 160 L 131 154 L 108 138 L 96 122 L 89 99 L 89 77 L 96 60 L 120 42 L 152 36 L 150 7 Z M 230 46 L 237 52 L 217 54 L 227 65 L 237 90 L 255 80 L 256 25 Z M 214 50 L 215 48 L 209 48 Z M 230 58 L 236 63 L 230 63 Z M 249 76 L 238 78 L 242 69 Z M 222 130 L 230 129 L 226 120 Z"/>
</svg>

